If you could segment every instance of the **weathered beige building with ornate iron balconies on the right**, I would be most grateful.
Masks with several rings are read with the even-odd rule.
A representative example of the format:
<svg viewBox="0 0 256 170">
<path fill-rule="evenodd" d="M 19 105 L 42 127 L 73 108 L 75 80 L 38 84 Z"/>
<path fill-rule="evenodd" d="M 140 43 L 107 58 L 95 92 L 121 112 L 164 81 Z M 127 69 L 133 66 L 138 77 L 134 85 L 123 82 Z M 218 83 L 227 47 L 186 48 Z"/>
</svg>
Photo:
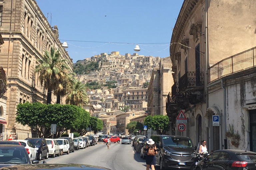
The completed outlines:
<svg viewBox="0 0 256 170">
<path fill-rule="evenodd" d="M 233 148 L 225 136 L 229 124 L 234 124 L 235 132 L 244 133 L 242 137 L 245 140 L 240 141 L 238 147 L 246 149 L 249 145 L 249 131 L 245 130 L 248 129 L 248 120 L 243 119 L 242 111 L 245 108 L 249 113 L 254 108 L 249 105 L 255 102 L 255 96 L 251 96 L 255 92 L 255 82 L 250 75 L 248 80 L 241 77 L 239 81 L 234 77 L 227 81 L 220 78 L 228 75 L 224 73 L 227 69 L 233 76 L 236 75 L 235 70 L 242 70 L 238 65 L 231 68 L 234 63 L 230 60 L 224 63 L 223 59 L 256 46 L 255 7 L 256 2 L 252 0 L 185 0 L 173 29 L 170 57 L 174 85 L 167 102 L 167 114 L 173 119 L 183 110 L 188 119 L 186 130 L 179 132 L 175 125 L 175 134 L 189 136 L 195 144 L 204 139 L 208 150 Z M 255 50 L 250 51 L 253 53 Z M 251 56 L 255 57 L 255 53 Z M 241 65 L 249 62 L 242 55 L 236 59 L 234 62 Z M 217 62 L 218 66 L 209 68 Z M 211 84 L 214 76 L 220 79 L 216 86 Z M 213 115 L 220 116 L 221 126 L 213 126 Z M 247 144 L 242 146 L 241 143 Z"/>
</svg>

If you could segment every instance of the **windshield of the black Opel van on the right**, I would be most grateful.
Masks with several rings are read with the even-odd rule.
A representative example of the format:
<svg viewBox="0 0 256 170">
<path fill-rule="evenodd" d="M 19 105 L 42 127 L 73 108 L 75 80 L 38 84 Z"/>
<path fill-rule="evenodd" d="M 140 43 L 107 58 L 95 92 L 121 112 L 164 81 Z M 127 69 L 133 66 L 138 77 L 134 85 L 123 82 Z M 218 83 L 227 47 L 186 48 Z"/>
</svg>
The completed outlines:
<svg viewBox="0 0 256 170">
<path fill-rule="evenodd" d="M 192 148 L 192 142 L 185 137 L 164 136 L 163 144 L 171 147 Z"/>
</svg>

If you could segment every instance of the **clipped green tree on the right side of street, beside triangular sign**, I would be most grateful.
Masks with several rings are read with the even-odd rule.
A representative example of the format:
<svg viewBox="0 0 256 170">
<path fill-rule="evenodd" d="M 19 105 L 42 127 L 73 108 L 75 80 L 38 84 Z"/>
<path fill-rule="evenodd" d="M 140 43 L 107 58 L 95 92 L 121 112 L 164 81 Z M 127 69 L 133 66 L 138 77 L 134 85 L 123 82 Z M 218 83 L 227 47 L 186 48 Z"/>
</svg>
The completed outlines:
<svg viewBox="0 0 256 170">
<path fill-rule="evenodd" d="M 147 116 L 144 119 L 144 125 L 147 125 L 147 128 L 156 130 L 158 134 L 166 134 L 166 131 L 170 128 L 169 117 L 167 115 Z"/>
</svg>

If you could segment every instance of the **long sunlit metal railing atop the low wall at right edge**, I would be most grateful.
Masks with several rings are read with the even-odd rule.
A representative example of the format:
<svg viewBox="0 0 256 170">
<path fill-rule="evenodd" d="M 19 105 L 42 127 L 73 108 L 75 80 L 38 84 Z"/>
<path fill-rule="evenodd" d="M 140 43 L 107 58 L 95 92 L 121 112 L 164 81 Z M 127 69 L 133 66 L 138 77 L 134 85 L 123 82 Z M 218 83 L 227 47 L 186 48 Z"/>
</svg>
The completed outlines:
<svg viewBox="0 0 256 170">
<path fill-rule="evenodd" d="M 225 58 L 211 66 L 208 69 L 208 83 L 252 67 L 256 67 L 256 47 Z"/>
</svg>

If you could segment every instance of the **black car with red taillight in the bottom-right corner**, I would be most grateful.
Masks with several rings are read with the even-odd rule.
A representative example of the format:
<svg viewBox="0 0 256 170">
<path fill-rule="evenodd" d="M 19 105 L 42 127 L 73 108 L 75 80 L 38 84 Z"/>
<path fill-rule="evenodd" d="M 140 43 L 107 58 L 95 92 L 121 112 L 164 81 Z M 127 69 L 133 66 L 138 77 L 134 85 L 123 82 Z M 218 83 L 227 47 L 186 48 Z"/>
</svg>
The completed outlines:
<svg viewBox="0 0 256 170">
<path fill-rule="evenodd" d="M 196 170 L 255 170 L 256 153 L 244 150 L 216 150 L 198 162 Z"/>
</svg>

